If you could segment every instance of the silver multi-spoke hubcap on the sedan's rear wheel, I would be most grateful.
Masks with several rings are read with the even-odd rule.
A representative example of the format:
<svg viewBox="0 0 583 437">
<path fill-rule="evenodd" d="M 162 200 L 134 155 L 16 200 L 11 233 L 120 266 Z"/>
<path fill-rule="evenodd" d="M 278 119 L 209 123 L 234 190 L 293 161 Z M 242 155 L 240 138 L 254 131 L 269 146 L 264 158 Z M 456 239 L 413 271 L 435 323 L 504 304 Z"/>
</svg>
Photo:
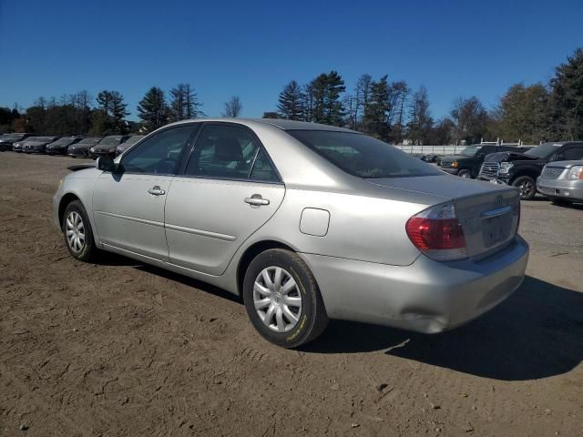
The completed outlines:
<svg viewBox="0 0 583 437">
<path fill-rule="evenodd" d="M 281 267 L 262 269 L 253 284 L 253 303 L 265 326 L 292 330 L 302 315 L 302 295 L 292 275 Z"/>
</svg>

